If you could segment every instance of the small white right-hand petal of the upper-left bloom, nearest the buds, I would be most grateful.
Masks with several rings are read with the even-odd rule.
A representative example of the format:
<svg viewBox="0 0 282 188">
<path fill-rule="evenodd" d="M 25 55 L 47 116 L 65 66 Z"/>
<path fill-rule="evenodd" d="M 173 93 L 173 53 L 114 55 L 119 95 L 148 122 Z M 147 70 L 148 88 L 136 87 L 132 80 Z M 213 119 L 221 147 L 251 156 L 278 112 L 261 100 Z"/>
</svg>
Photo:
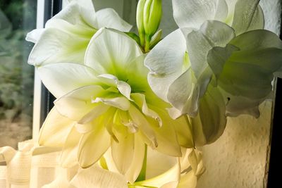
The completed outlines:
<svg viewBox="0 0 282 188">
<path fill-rule="evenodd" d="M 132 25 L 125 22 L 119 17 L 118 13 L 113 8 L 104 8 L 96 13 L 98 28 L 106 27 L 129 32 Z"/>
</svg>

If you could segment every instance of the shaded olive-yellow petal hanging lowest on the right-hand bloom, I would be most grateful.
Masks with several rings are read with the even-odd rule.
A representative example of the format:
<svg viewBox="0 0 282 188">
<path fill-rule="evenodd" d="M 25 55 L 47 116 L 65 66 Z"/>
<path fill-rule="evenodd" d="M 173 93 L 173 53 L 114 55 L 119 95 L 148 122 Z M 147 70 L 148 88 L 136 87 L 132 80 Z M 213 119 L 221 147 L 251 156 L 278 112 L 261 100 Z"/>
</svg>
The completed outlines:
<svg viewBox="0 0 282 188">
<path fill-rule="evenodd" d="M 225 103 L 216 87 L 209 85 L 200 99 L 199 113 L 191 118 L 195 146 L 203 146 L 218 139 L 226 127 Z"/>
</svg>

